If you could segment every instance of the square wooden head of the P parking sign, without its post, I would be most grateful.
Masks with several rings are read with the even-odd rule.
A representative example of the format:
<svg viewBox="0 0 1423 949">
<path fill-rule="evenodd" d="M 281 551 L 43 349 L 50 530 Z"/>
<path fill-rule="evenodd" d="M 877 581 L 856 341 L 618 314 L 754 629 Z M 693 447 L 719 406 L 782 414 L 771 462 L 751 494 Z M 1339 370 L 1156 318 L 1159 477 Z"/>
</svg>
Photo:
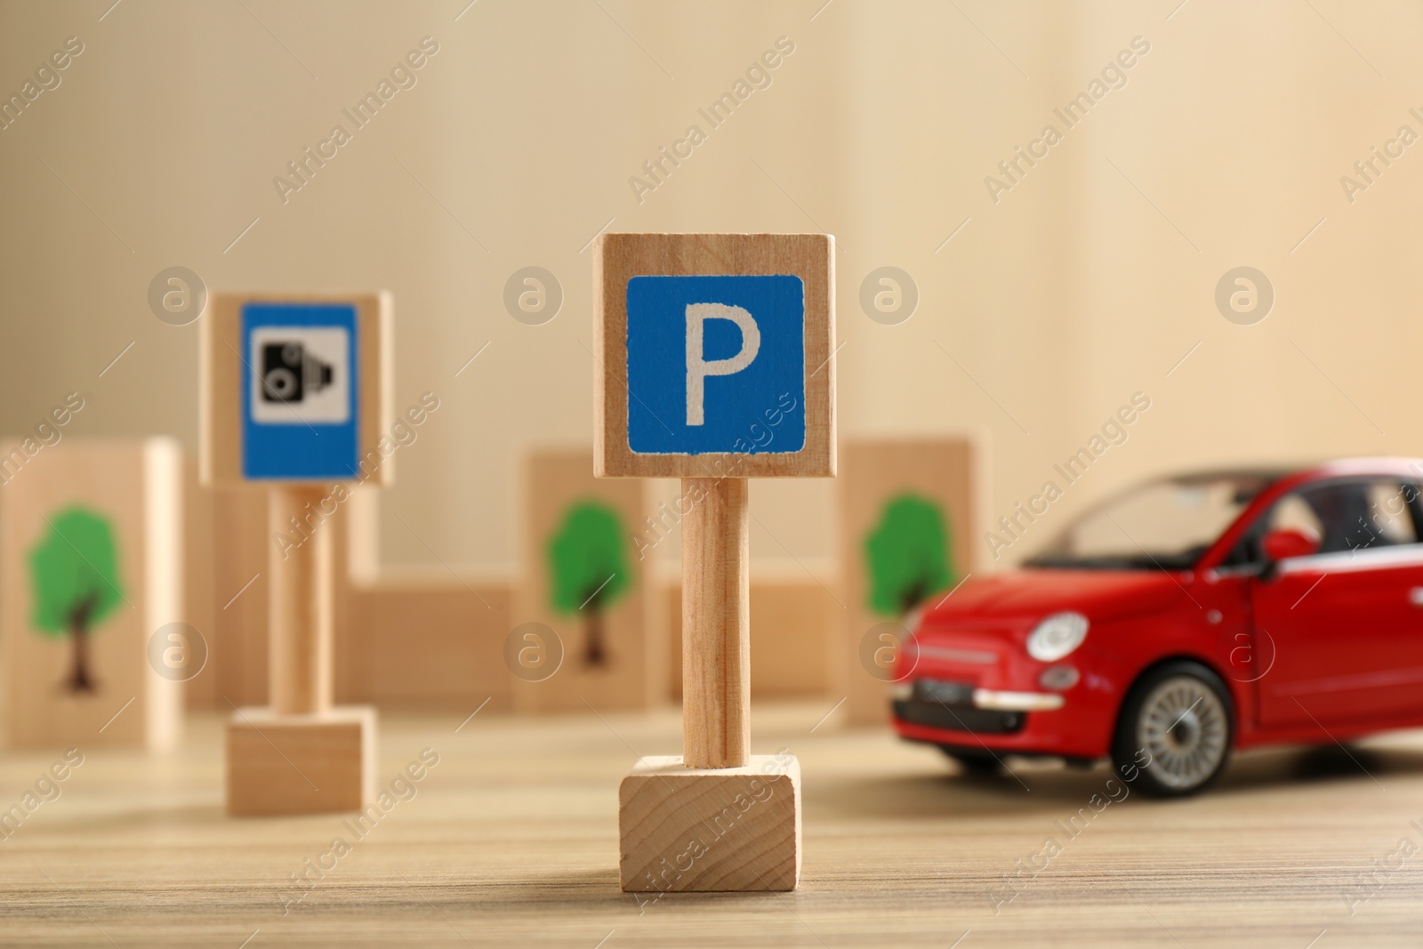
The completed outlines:
<svg viewBox="0 0 1423 949">
<path fill-rule="evenodd" d="M 835 474 L 830 235 L 595 245 L 601 477 Z"/>
</svg>

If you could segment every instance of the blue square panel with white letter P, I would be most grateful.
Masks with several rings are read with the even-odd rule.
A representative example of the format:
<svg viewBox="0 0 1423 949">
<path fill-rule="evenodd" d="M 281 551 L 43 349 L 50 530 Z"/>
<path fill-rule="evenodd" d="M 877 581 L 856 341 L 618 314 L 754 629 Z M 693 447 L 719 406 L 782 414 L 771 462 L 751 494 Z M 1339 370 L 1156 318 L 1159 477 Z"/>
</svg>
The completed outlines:
<svg viewBox="0 0 1423 949">
<path fill-rule="evenodd" d="M 805 285 L 785 275 L 629 279 L 628 391 L 638 454 L 803 450 Z"/>
</svg>

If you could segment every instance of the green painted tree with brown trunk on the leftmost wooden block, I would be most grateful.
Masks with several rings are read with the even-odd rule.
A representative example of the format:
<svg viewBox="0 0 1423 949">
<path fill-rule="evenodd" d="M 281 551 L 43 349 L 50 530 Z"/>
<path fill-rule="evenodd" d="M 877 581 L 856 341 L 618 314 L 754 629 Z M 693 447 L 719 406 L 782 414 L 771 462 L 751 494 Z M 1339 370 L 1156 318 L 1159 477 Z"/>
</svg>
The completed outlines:
<svg viewBox="0 0 1423 949">
<path fill-rule="evenodd" d="M 31 622 L 41 635 L 68 636 L 74 663 L 70 691 L 94 691 L 88 640 L 124 599 L 118 546 L 108 518 L 73 507 L 46 518 L 50 531 L 30 549 Z"/>
</svg>

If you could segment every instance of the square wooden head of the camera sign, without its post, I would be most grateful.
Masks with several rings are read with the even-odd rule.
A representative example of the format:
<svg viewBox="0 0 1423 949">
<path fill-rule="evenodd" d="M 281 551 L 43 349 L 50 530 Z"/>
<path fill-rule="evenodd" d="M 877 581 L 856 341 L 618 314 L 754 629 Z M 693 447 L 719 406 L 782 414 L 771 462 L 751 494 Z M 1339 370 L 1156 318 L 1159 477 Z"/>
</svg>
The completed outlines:
<svg viewBox="0 0 1423 949">
<path fill-rule="evenodd" d="M 390 346 L 387 293 L 213 293 L 203 481 L 388 484 Z"/>
</svg>

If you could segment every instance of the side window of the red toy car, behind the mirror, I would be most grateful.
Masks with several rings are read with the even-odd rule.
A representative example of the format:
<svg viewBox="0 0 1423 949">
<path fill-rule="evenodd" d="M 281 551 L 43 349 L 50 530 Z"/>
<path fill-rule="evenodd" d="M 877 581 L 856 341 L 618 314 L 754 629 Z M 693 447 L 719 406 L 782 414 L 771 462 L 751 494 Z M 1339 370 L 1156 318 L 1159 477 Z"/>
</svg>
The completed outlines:
<svg viewBox="0 0 1423 949">
<path fill-rule="evenodd" d="M 1419 544 L 1423 499 L 1419 485 L 1397 478 L 1340 478 L 1305 485 L 1276 501 L 1241 538 L 1222 566 L 1264 562 L 1261 539 L 1269 531 L 1306 531 L 1321 553 Z"/>
</svg>

